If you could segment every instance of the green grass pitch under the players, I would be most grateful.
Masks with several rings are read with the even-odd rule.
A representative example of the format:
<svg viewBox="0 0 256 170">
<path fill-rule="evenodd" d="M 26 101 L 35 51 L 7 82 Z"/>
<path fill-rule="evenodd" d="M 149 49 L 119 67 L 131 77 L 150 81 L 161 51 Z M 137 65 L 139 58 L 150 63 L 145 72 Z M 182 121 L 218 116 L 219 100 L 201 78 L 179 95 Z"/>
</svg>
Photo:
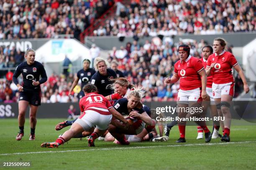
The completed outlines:
<svg viewBox="0 0 256 170">
<path fill-rule="evenodd" d="M 64 119 L 63 119 L 64 120 Z M 36 140 L 30 141 L 29 120 L 25 135 L 16 141 L 17 119 L 0 119 L 0 169 L 36 170 L 191 170 L 191 169 L 256 169 L 256 126 L 232 126 L 231 142 L 220 138 L 210 144 L 196 140 L 197 128 L 186 127 L 187 143 L 177 144 L 178 128 L 174 127 L 167 142 L 131 143 L 128 146 L 95 141 L 87 147 L 87 140 L 72 139 L 59 148 L 41 148 L 43 142 L 53 142 L 68 128 L 55 130 L 61 119 L 38 119 Z M 212 127 L 209 127 L 212 129 Z M 30 163 L 30 167 L 6 167 L 6 162 Z"/>
</svg>

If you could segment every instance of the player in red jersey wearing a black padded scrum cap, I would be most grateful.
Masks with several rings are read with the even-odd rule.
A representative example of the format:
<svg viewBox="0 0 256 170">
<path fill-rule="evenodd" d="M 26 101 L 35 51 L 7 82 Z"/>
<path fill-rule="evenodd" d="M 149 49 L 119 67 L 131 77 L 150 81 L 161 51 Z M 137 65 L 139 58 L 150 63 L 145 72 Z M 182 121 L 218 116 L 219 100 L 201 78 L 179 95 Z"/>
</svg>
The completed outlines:
<svg viewBox="0 0 256 170">
<path fill-rule="evenodd" d="M 175 83 L 180 79 L 180 89 L 177 100 L 178 108 L 200 107 L 202 99 L 207 97 L 207 77 L 204 66 L 199 59 L 190 55 L 190 48 L 188 45 L 180 45 L 178 52 L 180 60 L 174 65 L 174 75 L 171 78 L 167 77 L 164 82 Z M 186 142 L 186 121 L 184 118 L 186 118 L 187 112 L 185 112 L 184 109 L 179 109 L 178 115 L 182 120 L 178 121 L 180 138 L 176 142 L 184 143 Z M 205 142 L 210 142 L 211 133 L 208 130 L 205 121 L 197 121 L 196 123 L 200 125 L 205 132 Z"/>
</svg>

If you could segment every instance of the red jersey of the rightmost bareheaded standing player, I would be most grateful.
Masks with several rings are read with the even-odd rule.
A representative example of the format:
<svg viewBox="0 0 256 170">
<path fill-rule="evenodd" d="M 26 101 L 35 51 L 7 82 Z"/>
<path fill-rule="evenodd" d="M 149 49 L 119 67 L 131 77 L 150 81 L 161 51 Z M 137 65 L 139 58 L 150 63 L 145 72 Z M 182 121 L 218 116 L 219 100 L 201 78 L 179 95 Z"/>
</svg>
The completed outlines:
<svg viewBox="0 0 256 170">
<path fill-rule="evenodd" d="M 207 67 L 215 63 L 212 68 L 212 77 L 215 84 L 234 82 L 232 67 L 238 64 L 235 56 L 230 52 L 223 51 L 220 55 L 210 55 L 207 60 Z"/>
</svg>

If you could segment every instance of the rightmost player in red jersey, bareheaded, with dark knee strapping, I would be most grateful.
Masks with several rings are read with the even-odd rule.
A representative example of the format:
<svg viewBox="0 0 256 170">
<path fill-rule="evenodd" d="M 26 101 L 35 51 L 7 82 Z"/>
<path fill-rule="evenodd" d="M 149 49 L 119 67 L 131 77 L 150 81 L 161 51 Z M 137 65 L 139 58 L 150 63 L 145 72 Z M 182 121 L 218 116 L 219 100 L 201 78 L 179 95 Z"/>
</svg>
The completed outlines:
<svg viewBox="0 0 256 170">
<path fill-rule="evenodd" d="M 232 67 L 238 72 L 243 81 L 243 90 L 249 92 L 246 77 L 238 64 L 235 56 L 226 51 L 226 41 L 222 38 L 215 38 L 213 41 L 214 54 L 210 55 L 207 60 L 207 75 L 212 75 L 212 95 L 221 110 L 224 120 L 224 133 L 221 141 L 230 141 L 231 113 L 230 102 L 233 99 L 235 82 L 232 75 Z"/>
</svg>

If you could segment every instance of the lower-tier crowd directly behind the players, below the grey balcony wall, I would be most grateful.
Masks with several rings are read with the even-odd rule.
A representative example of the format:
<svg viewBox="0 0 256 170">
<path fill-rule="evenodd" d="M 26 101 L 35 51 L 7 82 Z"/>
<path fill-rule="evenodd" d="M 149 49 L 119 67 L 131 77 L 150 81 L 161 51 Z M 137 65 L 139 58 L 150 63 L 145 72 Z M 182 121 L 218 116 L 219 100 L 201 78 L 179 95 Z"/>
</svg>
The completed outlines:
<svg viewBox="0 0 256 170">
<path fill-rule="evenodd" d="M 109 53 L 109 62 L 118 62 L 118 70 L 123 72 L 131 84 L 145 88 L 146 96 L 143 101 L 172 101 L 177 99 L 179 82 L 166 85 L 164 79 L 173 74 L 174 63 L 179 60 L 177 46 L 182 42 L 173 45 L 170 45 L 170 42 L 172 43 L 172 41 L 166 40 L 163 44 L 160 38 L 156 37 L 151 42 L 146 40 L 145 44 L 140 45 L 134 40 L 120 49 L 113 47 Z M 198 58 L 200 58 L 202 47 L 207 45 L 204 40 L 187 42 L 187 44 L 191 48 L 190 54 Z M 64 74 L 48 75 L 47 82 L 41 85 L 41 102 L 78 102 L 77 93 L 79 90 L 74 92 L 71 97 L 68 96 L 74 76 L 76 73 L 69 73 L 67 76 Z M 0 102 L 17 102 L 19 95 L 17 87 L 7 77 L 0 79 Z M 20 79 L 20 81 L 22 80 Z M 242 89 L 243 83 L 241 83 L 241 78 L 237 76 L 235 96 L 238 96 Z"/>
</svg>

